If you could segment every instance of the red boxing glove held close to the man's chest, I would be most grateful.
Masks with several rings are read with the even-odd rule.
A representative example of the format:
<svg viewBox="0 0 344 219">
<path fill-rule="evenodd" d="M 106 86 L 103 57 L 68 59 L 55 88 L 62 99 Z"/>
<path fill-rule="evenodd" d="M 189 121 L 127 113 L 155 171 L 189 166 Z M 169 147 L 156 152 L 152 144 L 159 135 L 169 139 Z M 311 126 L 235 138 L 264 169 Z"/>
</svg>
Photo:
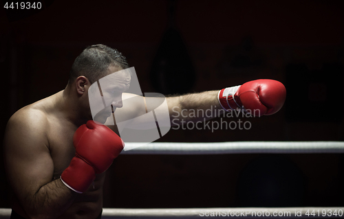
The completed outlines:
<svg viewBox="0 0 344 219">
<path fill-rule="evenodd" d="M 124 148 L 124 142 L 103 124 L 89 120 L 73 137 L 75 157 L 61 174 L 61 181 L 74 192 L 83 193 L 107 170 Z"/>
</svg>

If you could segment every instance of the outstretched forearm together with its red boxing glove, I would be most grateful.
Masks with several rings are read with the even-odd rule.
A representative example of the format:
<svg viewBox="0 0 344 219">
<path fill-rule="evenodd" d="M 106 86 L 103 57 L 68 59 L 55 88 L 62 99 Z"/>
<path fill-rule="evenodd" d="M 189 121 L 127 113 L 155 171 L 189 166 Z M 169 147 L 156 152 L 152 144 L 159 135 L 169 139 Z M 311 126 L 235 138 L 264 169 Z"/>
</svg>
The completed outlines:
<svg viewBox="0 0 344 219">
<path fill-rule="evenodd" d="M 191 93 L 166 100 L 173 124 L 204 121 L 226 111 L 242 111 L 259 117 L 279 111 L 286 100 L 286 88 L 276 80 L 261 79 L 220 91 Z"/>
</svg>

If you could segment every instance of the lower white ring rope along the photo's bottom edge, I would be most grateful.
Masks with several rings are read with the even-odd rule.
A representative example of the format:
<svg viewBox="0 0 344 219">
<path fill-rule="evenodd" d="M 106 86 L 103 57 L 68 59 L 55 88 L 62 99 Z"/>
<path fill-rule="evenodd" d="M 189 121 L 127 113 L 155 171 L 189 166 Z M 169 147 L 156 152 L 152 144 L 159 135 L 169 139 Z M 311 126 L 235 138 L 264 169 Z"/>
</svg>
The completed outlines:
<svg viewBox="0 0 344 219">
<path fill-rule="evenodd" d="M 0 209 L 0 218 L 10 218 L 11 209 Z M 242 207 L 192 209 L 111 209 L 102 218 L 344 218 L 344 207 Z"/>
</svg>

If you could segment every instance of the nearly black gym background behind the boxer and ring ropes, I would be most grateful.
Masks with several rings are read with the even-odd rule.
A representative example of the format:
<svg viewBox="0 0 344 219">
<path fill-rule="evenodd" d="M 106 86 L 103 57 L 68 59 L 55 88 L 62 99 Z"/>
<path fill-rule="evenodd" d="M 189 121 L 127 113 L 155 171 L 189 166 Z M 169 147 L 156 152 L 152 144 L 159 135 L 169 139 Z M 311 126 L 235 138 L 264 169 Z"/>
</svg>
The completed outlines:
<svg viewBox="0 0 344 219">
<path fill-rule="evenodd" d="M 0 9 L 1 142 L 10 116 L 64 89 L 76 56 L 97 43 L 127 56 L 142 92 L 258 78 L 286 85 L 285 106 L 244 118 L 250 130 L 171 129 L 158 141 L 344 139 L 344 1 L 41 2 L 42 10 L 6 10 L 6 1 Z M 164 56 L 169 49 L 182 54 Z M 178 80 L 156 80 L 162 57 Z M 343 206 L 343 162 L 343 154 L 122 155 L 109 169 L 104 206 Z M 10 207 L 2 163 L 0 207 Z"/>
</svg>

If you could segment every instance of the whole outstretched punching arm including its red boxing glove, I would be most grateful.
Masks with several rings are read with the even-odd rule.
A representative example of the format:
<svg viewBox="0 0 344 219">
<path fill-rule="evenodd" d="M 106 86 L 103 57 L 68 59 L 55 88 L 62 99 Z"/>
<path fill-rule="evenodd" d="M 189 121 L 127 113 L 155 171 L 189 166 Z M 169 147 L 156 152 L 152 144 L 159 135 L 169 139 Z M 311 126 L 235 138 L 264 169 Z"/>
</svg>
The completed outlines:
<svg viewBox="0 0 344 219">
<path fill-rule="evenodd" d="M 286 100 L 286 88 L 276 80 L 253 80 L 241 86 L 219 91 L 167 97 L 167 107 L 159 106 L 164 98 L 123 94 L 123 100 L 123 107 L 118 109 L 116 117 L 127 121 L 128 127 L 146 129 L 155 128 L 154 120 L 140 116 L 149 111 L 154 111 L 155 117 L 160 118 L 169 111 L 170 122 L 174 125 L 180 122 L 212 119 L 226 111 L 239 110 L 255 116 L 272 115 L 283 106 Z M 163 122 L 163 124 L 168 123 Z"/>
</svg>

